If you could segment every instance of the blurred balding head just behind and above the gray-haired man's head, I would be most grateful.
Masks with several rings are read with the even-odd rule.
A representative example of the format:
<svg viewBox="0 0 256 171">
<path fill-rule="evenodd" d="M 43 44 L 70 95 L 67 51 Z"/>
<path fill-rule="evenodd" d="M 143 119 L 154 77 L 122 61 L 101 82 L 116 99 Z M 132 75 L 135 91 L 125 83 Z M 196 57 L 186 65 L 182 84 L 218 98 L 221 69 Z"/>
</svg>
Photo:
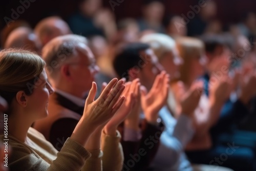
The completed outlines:
<svg viewBox="0 0 256 171">
<path fill-rule="evenodd" d="M 43 47 L 54 37 L 72 33 L 68 24 L 58 16 L 40 20 L 34 31 Z"/>
</svg>

